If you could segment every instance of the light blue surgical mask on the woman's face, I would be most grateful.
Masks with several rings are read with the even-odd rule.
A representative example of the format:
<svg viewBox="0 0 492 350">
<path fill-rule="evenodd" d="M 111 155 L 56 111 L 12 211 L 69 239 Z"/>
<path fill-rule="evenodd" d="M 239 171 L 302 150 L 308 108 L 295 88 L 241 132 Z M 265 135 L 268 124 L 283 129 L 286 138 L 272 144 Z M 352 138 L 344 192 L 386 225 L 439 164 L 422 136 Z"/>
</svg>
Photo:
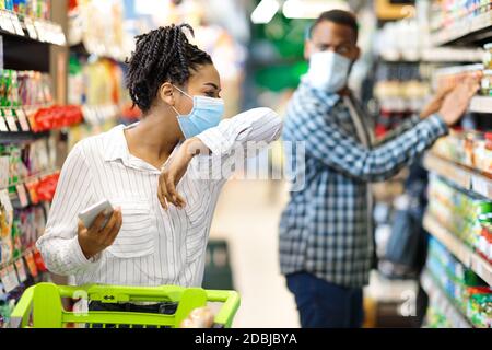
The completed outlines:
<svg viewBox="0 0 492 350">
<path fill-rule="evenodd" d="M 179 88 L 176 88 L 176 90 L 194 101 L 194 108 L 188 115 L 179 114 L 176 108 L 172 106 L 177 114 L 179 127 L 186 139 L 190 139 L 204 130 L 219 125 L 224 114 L 224 101 L 222 98 L 207 96 L 191 97 Z"/>
</svg>

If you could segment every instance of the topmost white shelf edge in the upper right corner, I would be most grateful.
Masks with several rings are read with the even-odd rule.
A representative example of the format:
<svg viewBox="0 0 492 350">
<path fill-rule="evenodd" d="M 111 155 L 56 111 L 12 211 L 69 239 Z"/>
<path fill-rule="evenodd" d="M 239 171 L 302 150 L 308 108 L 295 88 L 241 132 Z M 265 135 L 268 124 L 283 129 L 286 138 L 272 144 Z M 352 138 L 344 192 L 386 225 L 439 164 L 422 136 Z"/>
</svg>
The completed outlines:
<svg viewBox="0 0 492 350">
<path fill-rule="evenodd" d="M 442 28 L 431 35 L 433 46 L 456 43 L 473 43 L 492 35 L 492 11 L 472 19 L 464 19 L 458 23 Z"/>
</svg>

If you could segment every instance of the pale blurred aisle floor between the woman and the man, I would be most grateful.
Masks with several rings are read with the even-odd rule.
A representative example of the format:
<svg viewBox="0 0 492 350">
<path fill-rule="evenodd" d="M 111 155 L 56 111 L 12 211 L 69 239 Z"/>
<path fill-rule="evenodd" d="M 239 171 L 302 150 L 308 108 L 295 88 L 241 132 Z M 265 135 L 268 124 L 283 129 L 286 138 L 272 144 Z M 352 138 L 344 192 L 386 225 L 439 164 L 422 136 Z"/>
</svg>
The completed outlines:
<svg viewBox="0 0 492 350">
<path fill-rule="evenodd" d="M 298 327 L 278 265 L 278 223 L 286 199 L 284 184 L 266 180 L 231 180 L 219 199 L 211 237 L 230 244 L 242 295 L 235 327 Z"/>
</svg>

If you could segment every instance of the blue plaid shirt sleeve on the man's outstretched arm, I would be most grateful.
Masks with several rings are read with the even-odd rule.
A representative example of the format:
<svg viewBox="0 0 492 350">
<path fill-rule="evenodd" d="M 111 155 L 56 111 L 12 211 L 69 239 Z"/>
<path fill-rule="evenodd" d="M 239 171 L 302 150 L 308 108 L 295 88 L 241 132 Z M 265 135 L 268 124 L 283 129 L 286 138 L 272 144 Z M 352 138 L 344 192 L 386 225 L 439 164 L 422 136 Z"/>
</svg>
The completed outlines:
<svg viewBox="0 0 492 350">
<path fill-rule="evenodd" d="M 327 110 L 316 108 L 316 104 L 296 104 L 292 112 L 296 122 L 289 128 L 291 141 L 304 141 L 307 155 L 367 182 L 390 178 L 448 132 L 444 120 L 433 115 L 391 141 L 367 149 L 330 122 Z"/>
</svg>

